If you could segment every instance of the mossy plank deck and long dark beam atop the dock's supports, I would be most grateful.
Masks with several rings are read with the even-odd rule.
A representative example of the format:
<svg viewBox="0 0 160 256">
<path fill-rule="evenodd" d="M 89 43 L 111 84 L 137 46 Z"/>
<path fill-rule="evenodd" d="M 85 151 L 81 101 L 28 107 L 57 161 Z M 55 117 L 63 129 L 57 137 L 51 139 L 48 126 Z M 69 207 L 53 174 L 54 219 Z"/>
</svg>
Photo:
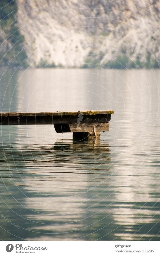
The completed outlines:
<svg viewBox="0 0 160 256">
<path fill-rule="evenodd" d="M 111 110 L 83 112 L 40 112 L 40 113 L 0 113 L 1 125 L 54 125 L 54 124 L 76 124 L 78 115 L 83 116 L 82 123 L 106 123 L 111 119 Z M 92 114 L 93 113 L 93 114 Z"/>
</svg>

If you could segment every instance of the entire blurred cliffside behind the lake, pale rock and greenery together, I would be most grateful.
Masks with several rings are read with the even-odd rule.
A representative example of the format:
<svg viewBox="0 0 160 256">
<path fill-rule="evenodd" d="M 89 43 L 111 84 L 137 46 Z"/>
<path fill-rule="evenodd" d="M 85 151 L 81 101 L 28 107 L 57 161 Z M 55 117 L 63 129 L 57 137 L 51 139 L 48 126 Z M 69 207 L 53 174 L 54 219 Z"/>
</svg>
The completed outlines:
<svg viewBox="0 0 160 256">
<path fill-rule="evenodd" d="M 160 67 L 160 3 L 1 0 L 0 65 Z"/>
</svg>

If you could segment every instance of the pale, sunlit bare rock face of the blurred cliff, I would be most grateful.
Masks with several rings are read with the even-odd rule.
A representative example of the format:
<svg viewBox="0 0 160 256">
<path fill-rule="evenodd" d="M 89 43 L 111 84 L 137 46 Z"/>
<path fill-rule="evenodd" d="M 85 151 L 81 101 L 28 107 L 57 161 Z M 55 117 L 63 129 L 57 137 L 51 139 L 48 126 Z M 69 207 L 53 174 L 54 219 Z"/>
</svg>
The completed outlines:
<svg viewBox="0 0 160 256">
<path fill-rule="evenodd" d="M 134 50 L 143 58 L 160 56 L 159 0 L 25 2 L 17 0 L 17 21 L 32 67 L 41 61 L 92 67 L 120 54 L 136 60 Z"/>
</svg>

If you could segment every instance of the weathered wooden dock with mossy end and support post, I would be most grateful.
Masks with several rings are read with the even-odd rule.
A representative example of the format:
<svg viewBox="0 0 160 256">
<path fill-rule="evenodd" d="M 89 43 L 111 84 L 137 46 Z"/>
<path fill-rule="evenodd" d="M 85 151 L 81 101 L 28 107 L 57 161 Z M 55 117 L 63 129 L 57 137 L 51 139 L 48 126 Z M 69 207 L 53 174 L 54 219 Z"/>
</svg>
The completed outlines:
<svg viewBox="0 0 160 256">
<path fill-rule="evenodd" d="M 73 132 L 74 140 L 100 138 L 101 131 L 109 131 L 113 110 L 85 110 L 78 112 L 0 113 L 1 125 L 54 125 L 57 133 Z"/>
</svg>

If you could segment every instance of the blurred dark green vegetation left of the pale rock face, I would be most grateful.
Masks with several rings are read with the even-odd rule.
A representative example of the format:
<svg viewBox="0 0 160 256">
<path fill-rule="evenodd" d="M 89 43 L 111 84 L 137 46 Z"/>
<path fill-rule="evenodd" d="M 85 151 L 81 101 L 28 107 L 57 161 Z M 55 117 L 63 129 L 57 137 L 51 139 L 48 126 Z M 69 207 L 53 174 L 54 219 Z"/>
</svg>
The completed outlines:
<svg viewBox="0 0 160 256">
<path fill-rule="evenodd" d="M 14 67 L 19 65 L 26 67 L 24 38 L 20 34 L 16 21 L 16 1 L 1 0 L 0 9 L 0 66 L 4 67 L 9 63 Z"/>
</svg>

